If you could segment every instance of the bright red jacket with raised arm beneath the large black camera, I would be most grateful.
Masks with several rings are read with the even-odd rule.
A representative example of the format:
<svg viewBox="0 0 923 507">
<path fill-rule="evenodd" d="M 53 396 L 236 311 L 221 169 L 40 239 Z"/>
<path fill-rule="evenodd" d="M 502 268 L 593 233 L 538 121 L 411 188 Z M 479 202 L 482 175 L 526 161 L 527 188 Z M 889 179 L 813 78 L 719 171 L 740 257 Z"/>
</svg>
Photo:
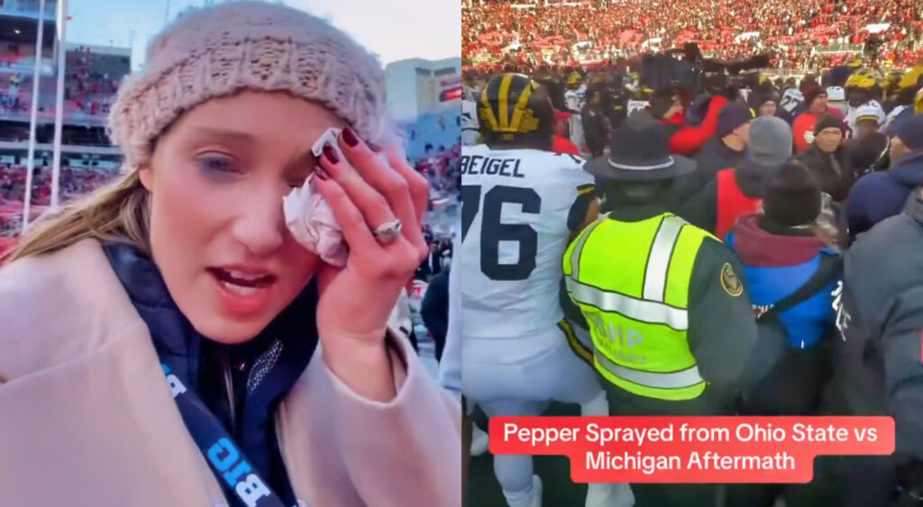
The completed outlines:
<svg viewBox="0 0 923 507">
<path fill-rule="evenodd" d="M 713 95 L 708 102 L 705 118 L 697 126 L 686 124 L 685 108 L 673 90 L 655 93 L 651 99 L 651 115 L 664 125 L 670 137 L 670 153 L 690 157 L 696 154 L 705 141 L 718 131 L 718 113 L 725 107 L 727 98 Z"/>
</svg>

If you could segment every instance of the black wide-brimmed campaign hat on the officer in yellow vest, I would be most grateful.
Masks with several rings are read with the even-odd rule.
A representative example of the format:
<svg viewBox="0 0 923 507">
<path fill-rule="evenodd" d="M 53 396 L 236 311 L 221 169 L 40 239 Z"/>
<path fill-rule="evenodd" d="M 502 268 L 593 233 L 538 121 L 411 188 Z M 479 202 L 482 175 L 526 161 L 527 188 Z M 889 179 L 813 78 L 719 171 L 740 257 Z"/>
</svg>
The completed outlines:
<svg viewBox="0 0 923 507">
<path fill-rule="evenodd" d="M 670 155 L 664 127 L 646 112 L 637 112 L 612 133 L 609 155 L 592 159 L 584 170 L 604 180 L 656 182 L 695 171 L 695 162 Z"/>
</svg>

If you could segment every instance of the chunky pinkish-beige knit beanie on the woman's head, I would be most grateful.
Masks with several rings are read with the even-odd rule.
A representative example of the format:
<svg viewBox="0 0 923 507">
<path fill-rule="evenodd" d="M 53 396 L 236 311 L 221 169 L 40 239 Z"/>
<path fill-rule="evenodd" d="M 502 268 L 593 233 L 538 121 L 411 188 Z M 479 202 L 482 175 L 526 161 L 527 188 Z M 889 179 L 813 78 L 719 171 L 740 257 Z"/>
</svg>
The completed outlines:
<svg viewBox="0 0 923 507">
<path fill-rule="evenodd" d="M 190 10 L 163 29 L 145 67 L 119 88 L 109 136 L 135 169 L 180 114 L 245 88 L 322 104 L 383 144 L 385 73 L 375 56 L 320 18 L 258 1 Z"/>
</svg>

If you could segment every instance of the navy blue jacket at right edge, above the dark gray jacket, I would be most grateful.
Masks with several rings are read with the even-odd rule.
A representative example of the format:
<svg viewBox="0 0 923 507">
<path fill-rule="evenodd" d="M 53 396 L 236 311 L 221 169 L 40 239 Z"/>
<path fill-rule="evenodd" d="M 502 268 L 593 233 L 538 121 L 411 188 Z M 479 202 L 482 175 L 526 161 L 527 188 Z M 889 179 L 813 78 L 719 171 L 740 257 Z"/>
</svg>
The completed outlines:
<svg viewBox="0 0 923 507">
<path fill-rule="evenodd" d="M 923 151 L 892 163 L 888 171 L 872 172 L 853 185 L 845 203 L 850 236 L 904 211 L 910 191 L 923 184 Z"/>
</svg>

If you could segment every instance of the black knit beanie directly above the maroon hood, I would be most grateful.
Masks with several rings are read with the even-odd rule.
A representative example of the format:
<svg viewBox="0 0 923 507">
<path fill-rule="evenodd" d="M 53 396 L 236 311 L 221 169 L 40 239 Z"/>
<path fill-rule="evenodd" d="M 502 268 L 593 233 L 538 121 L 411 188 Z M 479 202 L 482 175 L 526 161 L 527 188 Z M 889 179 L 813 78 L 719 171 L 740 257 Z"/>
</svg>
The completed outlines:
<svg viewBox="0 0 923 507">
<path fill-rule="evenodd" d="M 810 224 L 821 214 L 820 184 L 805 166 L 786 162 L 766 183 L 762 209 L 785 227 Z"/>
</svg>

